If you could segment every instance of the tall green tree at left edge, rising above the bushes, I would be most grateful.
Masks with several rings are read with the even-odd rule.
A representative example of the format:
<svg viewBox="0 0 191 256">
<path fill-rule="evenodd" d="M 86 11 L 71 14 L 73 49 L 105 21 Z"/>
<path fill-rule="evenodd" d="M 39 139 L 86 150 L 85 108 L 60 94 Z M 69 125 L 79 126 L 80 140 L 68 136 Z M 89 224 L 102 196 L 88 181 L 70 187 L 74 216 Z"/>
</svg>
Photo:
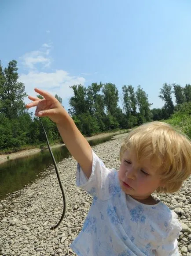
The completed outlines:
<svg viewBox="0 0 191 256">
<path fill-rule="evenodd" d="M 23 99 L 27 96 L 25 86 L 18 82 L 17 61 L 10 61 L 8 67 L 0 65 L 0 112 L 9 119 L 26 112 Z"/>
</svg>

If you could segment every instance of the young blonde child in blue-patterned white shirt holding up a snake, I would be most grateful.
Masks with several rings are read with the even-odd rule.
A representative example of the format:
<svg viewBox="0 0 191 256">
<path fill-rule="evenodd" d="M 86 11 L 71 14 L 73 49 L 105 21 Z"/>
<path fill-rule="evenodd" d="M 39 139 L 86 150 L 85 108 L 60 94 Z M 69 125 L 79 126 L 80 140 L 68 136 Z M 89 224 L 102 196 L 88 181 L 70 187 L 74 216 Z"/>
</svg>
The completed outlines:
<svg viewBox="0 0 191 256">
<path fill-rule="evenodd" d="M 79 256 L 179 256 L 176 214 L 152 193 L 178 191 L 191 174 L 191 141 L 163 122 L 132 130 L 120 150 L 119 171 L 105 167 L 55 97 L 26 107 L 56 122 L 77 160 L 77 186 L 93 197 L 82 231 L 71 244 Z"/>
</svg>

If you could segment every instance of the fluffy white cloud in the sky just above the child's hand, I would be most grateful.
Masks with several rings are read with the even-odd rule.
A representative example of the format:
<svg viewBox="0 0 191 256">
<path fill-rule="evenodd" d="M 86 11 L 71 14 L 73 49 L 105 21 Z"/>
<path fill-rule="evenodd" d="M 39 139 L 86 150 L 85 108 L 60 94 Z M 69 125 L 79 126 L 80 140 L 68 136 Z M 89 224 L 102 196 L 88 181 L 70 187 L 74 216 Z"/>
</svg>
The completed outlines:
<svg viewBox="0 0 191 256">
<path fill-rule="evenodd" d="M 25 85 L 25 92 L 28 95 L 36 96 L 37 94 L 34 92 L 36 87 L 44 89 L 52 95 L 58 94 L 62 100 L 70 98 L 73 95 L 70 86 L 73 84 L 84 85 L 85 79 L 81 76 L 71 76 L 62 69 L 55 72 L 44 72 L 44 69 L 49 67 L 52 62 L 49 56 L 50 50 L 51 44 L 44 43 L 39 50 L 25 53 L 20 59 L 28 73 L 20 74 L 19 81 Z M 29 99 L 25 99 L 25 103 L 28 102 Z"/>
</svg>

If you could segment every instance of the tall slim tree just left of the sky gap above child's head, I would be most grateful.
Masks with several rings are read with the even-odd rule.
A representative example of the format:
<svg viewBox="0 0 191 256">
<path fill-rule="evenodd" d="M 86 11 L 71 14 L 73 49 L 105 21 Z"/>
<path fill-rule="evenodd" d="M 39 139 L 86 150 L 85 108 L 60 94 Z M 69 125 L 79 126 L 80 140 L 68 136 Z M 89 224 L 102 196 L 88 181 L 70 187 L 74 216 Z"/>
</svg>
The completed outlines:
<svg viewBox="0 0 191 256">
<path fill-rule="evenodd" d="M 151 121 L 151 103 L 148 101 L 148 95 L 146 92 L 143 91 L 143 89 L 138 85 L 137 91 L 136 91 L 136 100 L 137 105 L 139 107 L 139 114 L 138 119 L 139 123 L 143 123 L 146 121 Z"/>
</svg>

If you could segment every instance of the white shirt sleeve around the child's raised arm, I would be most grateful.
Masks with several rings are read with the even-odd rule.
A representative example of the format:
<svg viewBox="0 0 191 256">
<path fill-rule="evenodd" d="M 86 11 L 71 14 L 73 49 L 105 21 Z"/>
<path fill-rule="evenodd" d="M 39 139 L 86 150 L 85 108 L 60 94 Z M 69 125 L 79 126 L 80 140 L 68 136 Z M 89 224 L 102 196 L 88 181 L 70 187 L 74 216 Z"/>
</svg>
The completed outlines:
<svg viewBox="0 0 191 256">
<path fill-rule="evenodd" d="M 109 199 L 109 176 L 112 170 L 105 167 L 103 161 L 92 151 L 92 174 L 85 176 L 80 164 L 77 164 L 76 185 L 83 188 L 93 197 Z"/>
</svg>

